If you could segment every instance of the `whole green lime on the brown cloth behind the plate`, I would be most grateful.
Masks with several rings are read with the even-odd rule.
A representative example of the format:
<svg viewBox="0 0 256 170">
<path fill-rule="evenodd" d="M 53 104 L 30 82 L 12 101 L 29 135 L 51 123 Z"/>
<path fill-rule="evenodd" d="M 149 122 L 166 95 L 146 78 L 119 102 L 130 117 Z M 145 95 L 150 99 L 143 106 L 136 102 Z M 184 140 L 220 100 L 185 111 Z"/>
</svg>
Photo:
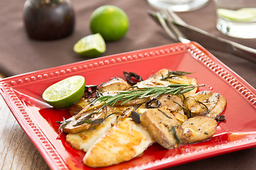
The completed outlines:
<svg viewBox="0 0 256 170">
<path fill-rule="evenodd" d="M 100 33 L 105 41 L 119 40 L 129 28 L 127 14 L 117 6 L 100 6 L 90 17 L 92 33 Z"/>
</svg>

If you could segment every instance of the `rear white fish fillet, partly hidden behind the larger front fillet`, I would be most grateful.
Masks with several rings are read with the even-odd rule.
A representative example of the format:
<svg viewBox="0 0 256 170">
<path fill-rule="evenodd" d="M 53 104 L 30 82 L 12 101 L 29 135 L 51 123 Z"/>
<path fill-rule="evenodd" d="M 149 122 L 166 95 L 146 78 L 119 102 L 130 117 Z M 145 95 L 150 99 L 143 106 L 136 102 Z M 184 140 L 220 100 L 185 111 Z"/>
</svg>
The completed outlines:
<svg viewBox="0 0 256 170">
<path fill-rule="evenodd" d="M 88 149 L 104 135 L 110 128 L 112 124 L 117 123 L 117 115 L 110 115 L 102 124 L 94 126 L 89 130 L 84 130 L 78 133 L 70 133 L 66 136 L 66 141 L 70 145 L 79 150 L 87 152 Z"/>
</svg>

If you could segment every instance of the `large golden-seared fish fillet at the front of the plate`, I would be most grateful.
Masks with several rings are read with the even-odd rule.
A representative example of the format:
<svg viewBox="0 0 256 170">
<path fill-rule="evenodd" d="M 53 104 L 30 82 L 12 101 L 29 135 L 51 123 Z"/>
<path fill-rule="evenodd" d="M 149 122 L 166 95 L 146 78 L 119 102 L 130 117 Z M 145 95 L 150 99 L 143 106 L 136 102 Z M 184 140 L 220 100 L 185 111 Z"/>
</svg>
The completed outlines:
<svg viewBox="0 0 256 170">
<path fill-rule="evenodd" d="M 119 164 L 139 156 L 153 142 L 141 124 L 126 118 L 100 137 L 82 161 L 90 167 Z"/>
</svg>

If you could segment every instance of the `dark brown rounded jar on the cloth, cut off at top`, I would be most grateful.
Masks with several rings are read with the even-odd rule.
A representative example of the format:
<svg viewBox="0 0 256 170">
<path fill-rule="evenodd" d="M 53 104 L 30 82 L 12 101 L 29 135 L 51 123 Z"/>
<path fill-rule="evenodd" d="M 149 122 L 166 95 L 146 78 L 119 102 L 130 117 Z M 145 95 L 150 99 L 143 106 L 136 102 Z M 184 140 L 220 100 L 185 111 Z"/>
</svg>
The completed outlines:
<svg viewBox="0 0 256 170">
<path fill-rule="evenodd" d="M 23 22 L 30 38 L 57 40 L 73 33 L 75 13 L 69 0 L 26 0 Z"/>
</svg>

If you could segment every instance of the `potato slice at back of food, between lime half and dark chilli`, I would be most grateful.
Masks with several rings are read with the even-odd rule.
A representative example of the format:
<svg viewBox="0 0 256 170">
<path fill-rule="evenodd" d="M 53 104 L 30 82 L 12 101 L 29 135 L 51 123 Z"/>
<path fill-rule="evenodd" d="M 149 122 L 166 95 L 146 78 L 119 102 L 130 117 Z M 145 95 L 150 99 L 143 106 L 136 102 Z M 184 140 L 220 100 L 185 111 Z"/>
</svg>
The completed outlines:
<svg viewBox="0 0 256 170">
<path fill-rule="evenodd" d="M 105 91 L 124 91 L 129 89 L 130 85 L 127 84 L 127 81 L 124 79 L 114 77 L 103 84 L 100 84 L 98 91 L 105 92 Z"/>
</svg>

